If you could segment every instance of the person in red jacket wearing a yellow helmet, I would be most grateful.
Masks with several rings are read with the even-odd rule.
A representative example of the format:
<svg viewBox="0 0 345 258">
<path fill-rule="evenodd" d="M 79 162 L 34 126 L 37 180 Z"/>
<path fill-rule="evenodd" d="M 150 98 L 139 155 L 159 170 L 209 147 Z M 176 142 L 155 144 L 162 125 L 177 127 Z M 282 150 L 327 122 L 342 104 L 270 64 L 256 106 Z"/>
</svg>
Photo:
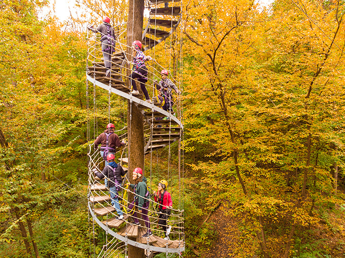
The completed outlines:
<svg viewBox="0 0 345 258">
<path fill-rule="evenodd" d="M 170 214 L 170 208 L 172 208 L 172 200 L 171 195 L 166 191 L 168 187 L 168 182 L 166 180 L 161 180 L 158 183 L 158 191 L 153 192 L 155 202 L 158 202 L 158 211 L 159 211 L 159 221 L 158 224 L 162 226 L 163 231 L 165 232 L 164 240 L 169 239 L 169 234 L 171 230 L 171 226 L 166 228 L 166 221 Z"/>
</svg>

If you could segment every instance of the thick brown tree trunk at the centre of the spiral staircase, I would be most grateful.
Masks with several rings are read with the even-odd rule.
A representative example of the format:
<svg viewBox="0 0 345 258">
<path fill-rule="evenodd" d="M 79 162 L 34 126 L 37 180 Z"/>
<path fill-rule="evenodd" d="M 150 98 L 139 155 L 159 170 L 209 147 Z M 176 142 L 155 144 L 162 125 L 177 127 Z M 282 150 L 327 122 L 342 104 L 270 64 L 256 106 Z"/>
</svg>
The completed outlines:
<svg viewBox="0 0 345 258">
<path fill-rule="evenodd" d="M 142 41 L 144 22 L 144 0 L 130 0 L 128 3 L 127 45 L 131 46 L 134 40 Z M 127 53 L 131 49 L 127 48 Z M 129 82 L 130 83 L 130 82 Z M 138 89 L 140 89 L 138 85 Z M 144 171 L 144 123 L 143 115 L 134 103 L 128 100 L 127 126 L 128 126 L 128 178 L 132 182 L 132 171 L 141 167 Z M 145 173 L 144 173 L 145 175 Z M 143 175 L 143 176 L 144 176 Z M 129 200 L 132 196 L 128 195 Z M 135 241 L 135 238 L 132 239 Z M 144 249 L 128 247 L 129 258 L 145 257 Z"/>
</svg>

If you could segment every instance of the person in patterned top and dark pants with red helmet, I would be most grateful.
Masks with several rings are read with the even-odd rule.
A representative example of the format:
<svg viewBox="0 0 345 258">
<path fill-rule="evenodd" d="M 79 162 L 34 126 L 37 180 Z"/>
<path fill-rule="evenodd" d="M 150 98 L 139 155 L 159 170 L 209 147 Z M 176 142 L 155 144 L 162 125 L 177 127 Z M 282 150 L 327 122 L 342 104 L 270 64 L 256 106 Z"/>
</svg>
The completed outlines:
<svg viewBox="0 0 345 258">
<path fill-rule="evenodd" d="M 147 67 L 145 61 L 152 60 L 152 57 L 145 56 L 142 52 L 142 42 L 135 40 L 132 44 L 133 53 L 133 72 L 130 75 L 131 85 L 133 87 L 132 94 L 139 94 L 139 91 L 136 88 L 135 79 L 140 82 L 140 88 L 142 89 L 145 99 L 147 102 L 151 103 L 149 93 L 146 89 L 147 82 Z"/>
</svg>

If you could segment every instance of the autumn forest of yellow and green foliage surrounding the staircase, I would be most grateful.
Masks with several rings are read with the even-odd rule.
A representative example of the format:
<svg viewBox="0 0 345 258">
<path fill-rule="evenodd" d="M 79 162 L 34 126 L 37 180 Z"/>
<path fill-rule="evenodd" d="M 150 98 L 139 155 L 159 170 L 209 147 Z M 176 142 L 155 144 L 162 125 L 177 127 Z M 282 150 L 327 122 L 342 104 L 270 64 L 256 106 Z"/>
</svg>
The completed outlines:
<svg viewBox="0 0 345 258">
<path fill-rule="evenodd" d="M 0 257 L 104 242 L 87 212 L 83 28 L 122 23 L 127 6 L 99 3 L 61 24 L 38 18 L 45 0 L 0 1 Z M 183 3 L 184 257 L 345 257 L 344 14 L 335 0 Z M 118 128 L 124 106 L 112 96 Z M 97 109 L 91 136 L 107 94 Z"/>
</svg>

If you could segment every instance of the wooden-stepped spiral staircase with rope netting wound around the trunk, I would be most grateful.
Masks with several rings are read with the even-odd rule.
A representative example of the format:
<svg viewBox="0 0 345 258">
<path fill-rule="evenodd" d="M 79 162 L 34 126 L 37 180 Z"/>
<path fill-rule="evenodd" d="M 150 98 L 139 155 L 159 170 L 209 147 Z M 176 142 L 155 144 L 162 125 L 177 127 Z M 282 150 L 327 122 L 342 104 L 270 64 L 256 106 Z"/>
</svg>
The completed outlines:
<svg viewBox="0 0 345 258">
<path fill-rule="evenodd" d="M 164 41 L 177 28 L 180 18 L 174 20 L 174 17 L 181 17 L 180 7 L 168 7 L 167 3 L 169 2 L 171 1 L 151 1 L 151 6 L 154 8 L 150 9 L 150 19 L 143 32 L 144 50 L 153 48 Z M 159 7 L 162 4 L 164 4 L 164 7 Z M 179 109 L 181 106 L 180 98 L 175 97 L 174 99 L 174 108 L 177 109 L 174 114 L 163 110 L 160 106 L 156 105 L 155 102 L 146 102 L 142 94 L 132 94 L 131 89 L 127 87 L 127 85 L 130 84 L 128 83 L 128 54 L 123 51 L 127 46 L 120 41 L 117 42 L 116 46 L 111 60 L 111 74 L 110 77 L 106 77 L 106 68 L 101 59 L 100 44 L 95 36 L 93 36 L 93 38 L 91 37 L 88 41 L 86 69 L 88 83 L 93 84 L 94 88 L 99 87 L 105 90 L 105 92 L 109 92 L 109 94 L 118 95 L 128 100 L 130 105 L 135 105 L 140 109 L 144 119 L 145 154 L 149 154 L 166 146 L 169 146 L 170 150 L 170 145 L 174 142 L 181 141 L 181 136 L 183 134 L 181 119 L 176 117 L 179 115 L 181 117 L 181 110 Z M 154 72 L 152 72 L 152 70 L 155 68 L 148 66 L 148 69 L 152 74 L 149 73 L 148 75 L 149 81 L 147 82 L 147 88 L 149 92 L 154 93 Z M 127 134 L 120 136 L 120 139 L 126 138 Z M 127 147 L 128 145 L 118 150 L 116 153 L 116 156 L 119 157 L 119 161 L 125 170 L 128 164 L 128 158 L 125 156 Z M 107 235 L 111 235 L 114 239 L 117 239 L 117 244 L 113 243 L 112 240 L 103 246 L 98 257 L 113 257 L 114 255 L 110 255 L 111 253 L 121 253 L 120 250 L 123 250 L 123 248 L 126 249 L 127 245 L 145 249 L 147 257 L 153 257 L 154 254 L 159 252 L 181 254 L 185 249 L 183 209 L 171 209 L 171 215 L 168 220 L 168 226 L 171 226 L 171 232 L 169 238 L 166 238 L 165 232 L 163 232 L 160 229 L 160 225 L 158 225 L 159 212 L 155 209 L 157 203 L 150 200 L 149 217 L 153 235 L 150 237 L 142 237 L 147 229 L 145 226 L 135 225 L 130 212 L 127 210 L 127 193 L 129 190 L 125 187 L 125 183 L 128 182 L 128 179 L 124 178 L 123 185 L 120 186 L 119 190 L 119 202 L 122 210 L 125 212 L 125 216 L 122 220 L 118 220 L 116 210 L 111 205 L 109 189 L 103 184 L 103 181 L 94 176 L 93 170 L 97 169 L 98 172 L 100 172 L 100 167 L 103 166 L 103 160 L 100 157 L 99 151 L 93 150 L 93 145 L 89 146 L 88 157 L 88 208 L 90 215 L 93 221 L 102 228 Z M 118 247 L 119 242 L 122 242 L 120 247 Z M 117 249 L 118 251 L 116 251 Z"/>
</svg>

